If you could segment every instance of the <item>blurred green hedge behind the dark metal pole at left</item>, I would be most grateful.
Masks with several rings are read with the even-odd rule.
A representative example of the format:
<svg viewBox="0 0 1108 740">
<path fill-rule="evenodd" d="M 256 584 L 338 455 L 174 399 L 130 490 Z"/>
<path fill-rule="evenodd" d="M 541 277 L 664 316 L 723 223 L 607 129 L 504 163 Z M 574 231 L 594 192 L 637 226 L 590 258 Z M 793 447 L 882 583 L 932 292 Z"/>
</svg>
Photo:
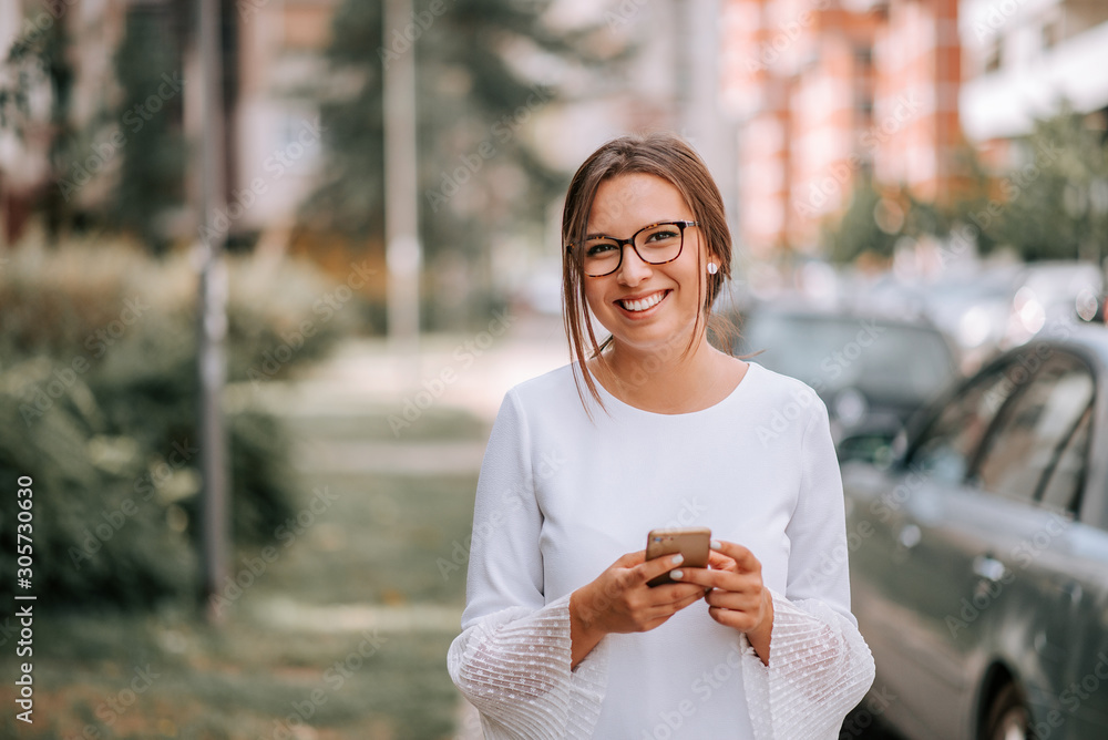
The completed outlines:
<svg viewBox="0 0 1108 740">
<path fill-rule="evenodd" d="M 228 285 L 232 382 L 285 377 L 356 318 L 317 310 L 329 286 L 306 264 L 229 260 Z M 16 578 L 22 475 L 35 593 L 141 606 L 194 592 L 196 286 L 187 258 L 119 246 L 25 247 L 0 271 L 0 598 Z M 293 513 L 286 438 L 236 403 L 227 439 L 234 537 L 267 543 Z"/>
</svg>

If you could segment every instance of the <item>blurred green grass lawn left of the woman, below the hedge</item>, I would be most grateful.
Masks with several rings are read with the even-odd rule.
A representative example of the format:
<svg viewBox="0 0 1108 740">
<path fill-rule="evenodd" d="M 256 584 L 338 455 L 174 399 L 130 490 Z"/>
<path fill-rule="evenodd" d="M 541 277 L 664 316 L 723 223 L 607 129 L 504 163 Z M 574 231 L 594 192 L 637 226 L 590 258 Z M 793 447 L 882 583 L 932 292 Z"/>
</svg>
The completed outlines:
<svg viewBox="0 0 1108 740">
<path fill-rule="evenodd" d="M 403 442 L 488 434 L 480 420 L 432 411 Z M 299 418 L 289 428 L 315 443 L 396 442 L 383 417 Z M 269 562 L 237 553 L 235 572 L 253 563 L 257 573 L 239 578 L 242 593 L 225 592 L 218 629 L 183 608 L 60 615 L 40 597 L 34 723 L 14 719 L 14 678 L 6 678 L 0 738 L 452 738 L 458 695 L 445 652 L 464 565 L 444 576 L 438 558 L 464 549 L 476 473 L 312 470 L 301 483 L 300 512 L 314 499 L 316 510 Z M 423 611 L 433 618 L 406 621 Z M 11 645 L 6 677 L 16 672 Z"/>
</svg>

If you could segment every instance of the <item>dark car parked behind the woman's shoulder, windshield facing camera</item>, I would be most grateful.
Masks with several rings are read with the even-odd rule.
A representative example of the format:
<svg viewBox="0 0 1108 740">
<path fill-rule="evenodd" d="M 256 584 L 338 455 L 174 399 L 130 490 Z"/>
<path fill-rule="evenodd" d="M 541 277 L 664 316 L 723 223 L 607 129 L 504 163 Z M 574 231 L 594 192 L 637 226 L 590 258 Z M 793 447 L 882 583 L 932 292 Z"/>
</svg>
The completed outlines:
<svg viewBox="0 0 1108 740">
<path fill-rule="evenodd" d="M 740 323 L 735 353 L 811 386 L 835 441 L 895 434 L 957 374 L 952 342 L 917 321 L 762 305 Z"/>
</svg>

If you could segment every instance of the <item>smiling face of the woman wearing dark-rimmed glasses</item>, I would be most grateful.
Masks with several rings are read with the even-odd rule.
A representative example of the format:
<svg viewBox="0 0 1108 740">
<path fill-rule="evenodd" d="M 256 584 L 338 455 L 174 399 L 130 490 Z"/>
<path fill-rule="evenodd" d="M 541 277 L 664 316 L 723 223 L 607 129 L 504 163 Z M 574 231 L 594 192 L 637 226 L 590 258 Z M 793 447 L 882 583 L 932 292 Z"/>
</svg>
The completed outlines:
<svg viewBox="0 0 1108 740">
<path fill-rule="evenodd" d="M 680 192 L 661 177 L 633 173 L 601 183 L 587 233 L 629 239 L 644 226 L 670 220 L 694 220 Z M 593 315 L 612 332 L 616 348 L 687 345 L 702 300 L 699 270 L 708 257 L 699 227 L 685 229 L 681 254 L 670 263 L 649 265 L 629 245 L 623 249 L 615 273 L 582 278 Z"/>
</svg>

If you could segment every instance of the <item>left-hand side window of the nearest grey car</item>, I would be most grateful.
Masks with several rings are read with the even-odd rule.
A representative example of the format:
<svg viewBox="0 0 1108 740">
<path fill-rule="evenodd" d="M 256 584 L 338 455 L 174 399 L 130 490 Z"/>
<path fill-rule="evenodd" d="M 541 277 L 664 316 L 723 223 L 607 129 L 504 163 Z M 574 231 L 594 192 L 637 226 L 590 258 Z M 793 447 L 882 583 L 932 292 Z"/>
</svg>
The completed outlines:
<svg viewBox="0 0 1108 740">
<path fill-rule="evenodd" d="M 986 371 L 963 388 L 919 438 L 909 462 L 937 482 L 964 481 L 985 432 L 1017 387 L 1012 367 Z"/>
</svg>

